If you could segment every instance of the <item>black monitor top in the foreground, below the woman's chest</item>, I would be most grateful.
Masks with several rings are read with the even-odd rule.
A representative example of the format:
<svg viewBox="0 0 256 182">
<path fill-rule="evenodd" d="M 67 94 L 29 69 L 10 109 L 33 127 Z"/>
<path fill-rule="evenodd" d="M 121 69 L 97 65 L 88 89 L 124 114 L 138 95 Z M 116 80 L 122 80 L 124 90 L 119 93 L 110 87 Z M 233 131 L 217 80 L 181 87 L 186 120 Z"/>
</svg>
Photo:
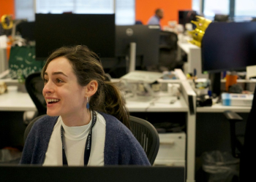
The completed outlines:
<svg viewBox="0 0 256 182">
<path fill-rule="evenodd" d="M 37 165 L 2 166 L 1 181 L 94 181 L 142 182 L 185 181 L 184 167 L 146 167 L 116 165 L 105 167 L 42 167 Z"/>
</svg>

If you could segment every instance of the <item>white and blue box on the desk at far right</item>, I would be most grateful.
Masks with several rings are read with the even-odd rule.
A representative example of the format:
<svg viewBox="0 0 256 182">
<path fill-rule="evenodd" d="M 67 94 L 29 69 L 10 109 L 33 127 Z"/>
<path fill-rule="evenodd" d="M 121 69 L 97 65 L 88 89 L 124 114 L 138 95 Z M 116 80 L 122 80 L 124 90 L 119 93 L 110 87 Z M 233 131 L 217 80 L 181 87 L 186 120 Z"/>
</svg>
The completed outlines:
<svg viewBox="0 0 256 182">
<path fill-rule="evenodd" d="M 252 106 L 252 94 L 222 93 L 223 106 Z"/>
</svg>

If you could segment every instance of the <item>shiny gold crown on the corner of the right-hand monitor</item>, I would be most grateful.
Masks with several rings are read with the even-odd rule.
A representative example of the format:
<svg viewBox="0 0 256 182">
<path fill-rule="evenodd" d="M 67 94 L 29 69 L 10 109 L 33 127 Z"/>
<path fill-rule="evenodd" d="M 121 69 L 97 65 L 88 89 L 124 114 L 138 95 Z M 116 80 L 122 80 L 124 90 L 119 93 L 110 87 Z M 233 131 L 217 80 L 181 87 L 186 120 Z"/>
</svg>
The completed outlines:
<svg viewBox="0 0 256 182">
<path fill-rule="evenodd" d="M 192 40 L 189 40 L 189 42 L 195 44 L 198 47 L 201 47 L 203 35 L 206 32 L 206 28 L 208 28 L 208 25 L 211 23 L 211 20 L 208 20 L 205 17 L 196 17 L 197 21 L 191 21 L 191 23 L 196 25 L 196 28 L 193 31 L 189 31 L 189 34 L 192 35 Z"/>
</svg>

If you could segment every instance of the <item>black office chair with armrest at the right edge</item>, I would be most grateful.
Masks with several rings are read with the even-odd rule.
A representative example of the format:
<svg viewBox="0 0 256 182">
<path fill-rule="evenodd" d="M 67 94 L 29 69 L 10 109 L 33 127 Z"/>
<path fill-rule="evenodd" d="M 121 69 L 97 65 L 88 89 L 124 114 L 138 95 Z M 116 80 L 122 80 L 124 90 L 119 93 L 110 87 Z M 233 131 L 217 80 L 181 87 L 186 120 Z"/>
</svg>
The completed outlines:
<svg viewBox="0 0 256 182">
<path fill-rule="evenodd" d="M 255 87 L 256 91 L 256 87 Z M 255 130 L 256 130 L 256 92 L 252 100 L 252 108 L 249 112 L 249 117 L 246 120 L 246 129 L 244 138 L 241 135 L 236 135 L 236 122 L 243 119 L 233 111 L 225 111 L 225 116 L 230 122 L 231 134 L 231 149 L 233 157 L 240 158 L 239 165 L 239 181 L 255 181 Z"/>
</svg>

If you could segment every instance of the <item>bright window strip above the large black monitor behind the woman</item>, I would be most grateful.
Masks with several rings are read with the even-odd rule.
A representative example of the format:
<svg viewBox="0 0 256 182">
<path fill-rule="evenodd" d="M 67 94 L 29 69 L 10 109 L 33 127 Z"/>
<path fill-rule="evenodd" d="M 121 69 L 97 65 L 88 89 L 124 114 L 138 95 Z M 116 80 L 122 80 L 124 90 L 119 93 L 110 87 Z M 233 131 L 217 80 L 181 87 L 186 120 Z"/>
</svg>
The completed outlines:
<svg viewBox="0 0 256 182">
<path fill-rule="evenodd" d="M 114 7 L 116 7 L 116 12 Z M 135 0 L 15 0 L 16 19 L 26 18 L 34 21 L 34 12 L 116 13 L 116 25 L 135 24 Z"/>
</svg>

